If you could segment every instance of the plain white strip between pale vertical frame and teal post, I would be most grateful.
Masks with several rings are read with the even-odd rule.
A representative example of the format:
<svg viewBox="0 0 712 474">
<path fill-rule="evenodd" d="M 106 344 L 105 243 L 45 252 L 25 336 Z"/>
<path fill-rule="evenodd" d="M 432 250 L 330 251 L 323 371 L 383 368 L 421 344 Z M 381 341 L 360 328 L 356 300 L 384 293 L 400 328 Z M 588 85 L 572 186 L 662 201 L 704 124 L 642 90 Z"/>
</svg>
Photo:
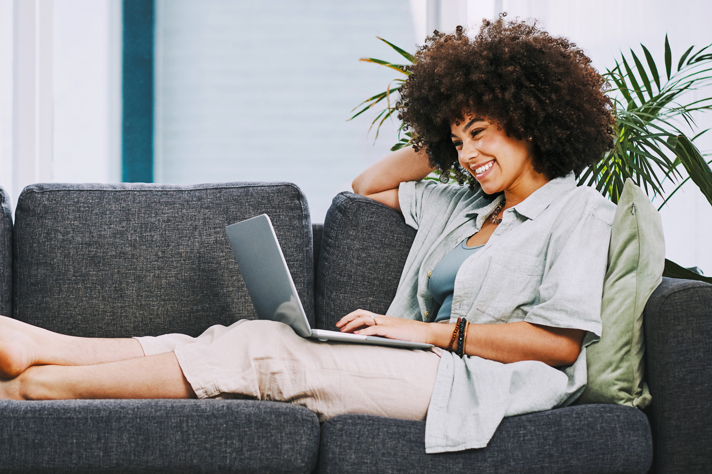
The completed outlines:
<svg viewBox="0 0 712 474">
<path fill-rule="evenodd" d="M 121 1 L 55 0 L 55 182 L 121 181 Z"/>
</svg>

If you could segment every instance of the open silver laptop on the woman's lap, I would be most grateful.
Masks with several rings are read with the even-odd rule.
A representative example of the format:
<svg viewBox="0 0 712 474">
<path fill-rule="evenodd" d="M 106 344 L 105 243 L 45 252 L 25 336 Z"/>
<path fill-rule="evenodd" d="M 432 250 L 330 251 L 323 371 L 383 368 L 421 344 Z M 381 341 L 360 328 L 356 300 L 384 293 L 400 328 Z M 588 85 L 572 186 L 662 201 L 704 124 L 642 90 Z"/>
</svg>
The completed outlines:
<svg viewBox="0 0 712 474">
<path fill-rule="evenodd" d="M 320 341 L 374 344 L 404 349 L 433 347 L 433 344 L 423 342 L 313 330 L 307 320 L 269 216 L 261 214 L 227 226 L 225 230 L 259 319 L 283 322 L 301 337 Z"/>
</svg>

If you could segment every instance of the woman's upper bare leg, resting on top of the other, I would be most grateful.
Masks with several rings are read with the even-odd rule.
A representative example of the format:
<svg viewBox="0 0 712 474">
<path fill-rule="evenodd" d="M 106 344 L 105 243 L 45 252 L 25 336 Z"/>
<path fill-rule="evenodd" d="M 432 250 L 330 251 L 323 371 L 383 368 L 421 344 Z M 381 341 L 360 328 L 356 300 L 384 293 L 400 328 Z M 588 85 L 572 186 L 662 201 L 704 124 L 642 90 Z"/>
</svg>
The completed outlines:
<svg viewBox="0 0 712 474">
<path fill-rule="evenodd" d="M 57 334 L 0 316 L 0 377 L 33 365 L 93 365 L 142 357 L 136 339 L 98 339 Z"/>
</svg>

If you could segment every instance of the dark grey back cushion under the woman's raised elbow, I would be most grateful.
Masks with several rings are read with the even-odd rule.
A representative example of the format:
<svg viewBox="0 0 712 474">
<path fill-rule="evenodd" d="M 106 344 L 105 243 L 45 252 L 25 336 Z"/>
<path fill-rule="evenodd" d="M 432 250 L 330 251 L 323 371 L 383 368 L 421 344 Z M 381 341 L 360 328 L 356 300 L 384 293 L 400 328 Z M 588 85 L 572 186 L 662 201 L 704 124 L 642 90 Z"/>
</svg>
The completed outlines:
<svg viewBox="0 0 712 474">
<path fill-rule="evenodd" d="M 343 192 L 324 221 L 317 269 L 317 327 L 333 330 L 344 315 L 362 308 L 384 314 L 398 288 L 415 238 L 397 211 Z"/>
</svg>

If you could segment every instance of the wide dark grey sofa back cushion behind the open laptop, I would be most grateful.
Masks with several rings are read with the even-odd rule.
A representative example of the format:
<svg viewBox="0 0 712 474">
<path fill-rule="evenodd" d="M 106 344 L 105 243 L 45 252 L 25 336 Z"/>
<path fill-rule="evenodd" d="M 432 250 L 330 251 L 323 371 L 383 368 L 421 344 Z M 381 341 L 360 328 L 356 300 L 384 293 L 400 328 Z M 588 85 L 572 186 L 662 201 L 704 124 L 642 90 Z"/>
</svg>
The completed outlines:
<svg viewBox="0 0 712 474">
<path fill-rule="evenodd" d="M 84 337 L 197 336 L 255 312 L 225 226 L 268 214 L 313 323 L 312 229 L 289 183 L 34 184 L 14 228 L 14 317 Z"/>
</svg>

